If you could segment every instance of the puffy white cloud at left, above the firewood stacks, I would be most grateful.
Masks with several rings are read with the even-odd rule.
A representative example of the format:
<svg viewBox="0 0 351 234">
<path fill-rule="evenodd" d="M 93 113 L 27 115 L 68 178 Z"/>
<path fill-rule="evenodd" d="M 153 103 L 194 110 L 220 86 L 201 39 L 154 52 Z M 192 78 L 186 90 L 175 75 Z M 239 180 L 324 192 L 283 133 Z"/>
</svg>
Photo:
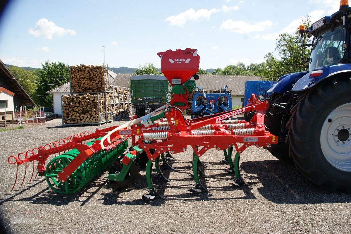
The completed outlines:
<svg viewBox="0 0 351 234">
<path fill-rule="evenodd" d="M 28 33 L 37 38 L 45 39 L 53 39 L 54 36 L 64 36 L 66 34 L 75 35 L 74 30 L 58 27 L 54 22 L 44 18 L 35 23 L 34 29 L 29 28 Z"/>
</svg>

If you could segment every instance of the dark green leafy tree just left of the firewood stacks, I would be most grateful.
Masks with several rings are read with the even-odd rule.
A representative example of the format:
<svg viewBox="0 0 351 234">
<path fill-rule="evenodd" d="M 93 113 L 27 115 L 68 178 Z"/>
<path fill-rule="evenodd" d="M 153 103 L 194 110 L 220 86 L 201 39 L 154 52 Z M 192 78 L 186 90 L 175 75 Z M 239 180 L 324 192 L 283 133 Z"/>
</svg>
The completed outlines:
<svg viewBox="0 0 351 234">
<path fill-rule="evenodd" d="M 47 91 L 54 89 L 69 81 L 67 65 L 63 62 L 46 61 L 42 65 L 42 70 L 39 71 L 39 82 L 34 100 L 37 105 L 53 106 L 52 94 L 47 94 Z"/>
</svg>

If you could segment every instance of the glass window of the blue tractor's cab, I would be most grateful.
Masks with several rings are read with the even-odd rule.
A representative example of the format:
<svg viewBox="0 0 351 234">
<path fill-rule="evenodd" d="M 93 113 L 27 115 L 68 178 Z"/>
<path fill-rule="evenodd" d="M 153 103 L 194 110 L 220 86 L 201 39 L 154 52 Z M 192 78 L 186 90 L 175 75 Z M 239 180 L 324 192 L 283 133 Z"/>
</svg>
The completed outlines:
<svg viewBox="0 0 351 234">
<path fill-rule="evenodd" d="M 345 42 L 345 31 L 339 27 L 318 33 L 311 49 L 309 71 L 325 65 L 339 63 L 344 56 L 342 47 Z"/>
</svg>

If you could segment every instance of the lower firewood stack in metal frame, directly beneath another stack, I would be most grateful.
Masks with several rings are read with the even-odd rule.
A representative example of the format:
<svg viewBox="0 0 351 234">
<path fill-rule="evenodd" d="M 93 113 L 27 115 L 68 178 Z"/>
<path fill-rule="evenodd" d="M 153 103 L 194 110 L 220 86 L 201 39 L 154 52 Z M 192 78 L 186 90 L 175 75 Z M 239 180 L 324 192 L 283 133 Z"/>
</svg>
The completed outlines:
<svg viewBox="0 0 351 234">
<path fill-rule="evenodd" d="M 106 120 L 106 111 L 111 112 L 110 97 L 103 94 L 62 96 L 64 123 L 97 123 Z M 112 116 L 107 115 L 111 120 Z"/>
</svg>

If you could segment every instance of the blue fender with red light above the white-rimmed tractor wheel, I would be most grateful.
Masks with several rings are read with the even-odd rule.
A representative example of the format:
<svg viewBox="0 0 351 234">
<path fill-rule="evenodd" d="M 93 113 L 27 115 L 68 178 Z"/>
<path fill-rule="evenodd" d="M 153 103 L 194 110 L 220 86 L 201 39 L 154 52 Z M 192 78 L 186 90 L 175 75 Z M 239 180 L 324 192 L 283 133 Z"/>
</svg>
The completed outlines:
<svg viewBox="0 0 351 234">
<path fill-rule="evenodd" d="M 323 71 L 319 76 L 312 76 L 311 73 L 315 71 Z M 314 69 L 312 72 L 305 74 L 301 79 L 299 79 L 294 87 L 292 87 L 292 91 L 294 93 L 303 93 L 306 90 L 313 88 L 318 83 L 332 77 L 335 75 L 343 75 L 351 73 L 351 64 L 336 64 L 331 66 L 318 67 Z"/>
</svg>

